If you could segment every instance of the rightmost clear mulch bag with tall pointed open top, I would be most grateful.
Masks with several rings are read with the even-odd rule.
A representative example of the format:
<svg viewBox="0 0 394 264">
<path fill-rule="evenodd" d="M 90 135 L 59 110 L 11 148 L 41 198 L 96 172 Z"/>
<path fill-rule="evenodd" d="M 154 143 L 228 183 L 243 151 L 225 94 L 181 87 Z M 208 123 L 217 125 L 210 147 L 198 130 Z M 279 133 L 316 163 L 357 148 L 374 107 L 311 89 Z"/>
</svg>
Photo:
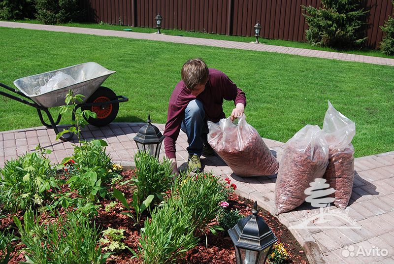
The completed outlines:
<svg viewBox="0 0 394 264">
<path fill-rule="evenodd" d="M 352 196 L 354 181 L 354 147 L 351 143 L 356 125 L 338 112 L 328 101 L 323 132 L 328 143 L 328 166 L 324 178 L 335 190 L 334 204 L 345 209 Z"/>
</svg>

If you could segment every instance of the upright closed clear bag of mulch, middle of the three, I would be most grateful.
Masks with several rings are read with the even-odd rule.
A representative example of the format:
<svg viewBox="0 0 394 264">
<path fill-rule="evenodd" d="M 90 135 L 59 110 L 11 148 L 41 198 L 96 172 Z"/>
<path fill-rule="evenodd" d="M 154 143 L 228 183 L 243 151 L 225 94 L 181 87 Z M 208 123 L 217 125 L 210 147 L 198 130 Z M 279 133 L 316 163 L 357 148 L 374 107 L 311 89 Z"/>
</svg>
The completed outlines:
<svg viewBox="0 0 394 264">
<path fill-rule="evenodd" d="M 309 183 L 322 178 L 328 165 L 328 145 L 319 126 L 306 125 L 284 147 L 275 184 L 277 213 L 301 205 Z"/>
</svg>

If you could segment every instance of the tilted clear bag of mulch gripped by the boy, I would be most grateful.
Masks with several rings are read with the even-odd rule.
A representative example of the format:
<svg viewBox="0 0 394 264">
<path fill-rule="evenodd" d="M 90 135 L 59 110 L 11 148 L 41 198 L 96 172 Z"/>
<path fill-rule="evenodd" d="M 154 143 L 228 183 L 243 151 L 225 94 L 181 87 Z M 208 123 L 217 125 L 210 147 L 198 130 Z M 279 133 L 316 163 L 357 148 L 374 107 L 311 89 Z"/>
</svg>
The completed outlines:
<svg viewBox="0 0 394 264">
<path fill-rule="evenodd" d="M 208 121 L 208 143 L 242 177 L 266 176 L 278 172 L 279 163 L 263 138 L 242 115 L 234 120 L 221 119 L 219 125 Z"/>
</svg>

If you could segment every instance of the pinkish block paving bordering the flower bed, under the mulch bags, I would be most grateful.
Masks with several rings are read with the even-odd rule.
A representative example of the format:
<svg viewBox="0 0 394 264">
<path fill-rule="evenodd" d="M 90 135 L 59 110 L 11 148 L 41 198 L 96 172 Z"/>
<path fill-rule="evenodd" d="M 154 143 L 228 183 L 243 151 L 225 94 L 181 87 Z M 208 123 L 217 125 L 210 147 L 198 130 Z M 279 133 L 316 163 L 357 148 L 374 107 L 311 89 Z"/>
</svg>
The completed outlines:
<svg viewBox="0 0 394 264">
<path fill-rule="evenodd" d="M 132 138 L 143 125 L 112 123 L 103 128 L 87 126 L 82 136 L 87 140 L 105 139 L 109 144 L 106 150 L 113 161 L 133 166 L 137 148 Z M 155 125 L 163 132 L 163 124 Z M 186 139 L 181 132 L 176 143 L 179 166 L 186 165 Z M 270 139 L 264 141 L 280 161 L 284 143 Z M 0 132 L 0 167 L 5 160 L 34 151 L 38 143 L 53 150 L 49 158 L 60 163 L 73 153 L 72 143 L 75 141 L 56 141 L 53 130 L 45 127 Z M 161 153 L 163 157 L 163 146 Z M 202 158 L 201 161 L 205 170 L 232 178 L 237 185 L 236 193 L 257 200 L 260 206 L 275 214 L 276 175 L 240 178 L 217 156 Z M 345 211 L 328 207 L 324 213 L 326 223 L 319 223 L 318 220 L 322 219 L 319 209 L 306 203 L 278 216 L 304 247 L 311 264 L 394 264 L 394 152 L 357 158 L 355 169 L 357 173 L 350 205 Z"/>
</svg>

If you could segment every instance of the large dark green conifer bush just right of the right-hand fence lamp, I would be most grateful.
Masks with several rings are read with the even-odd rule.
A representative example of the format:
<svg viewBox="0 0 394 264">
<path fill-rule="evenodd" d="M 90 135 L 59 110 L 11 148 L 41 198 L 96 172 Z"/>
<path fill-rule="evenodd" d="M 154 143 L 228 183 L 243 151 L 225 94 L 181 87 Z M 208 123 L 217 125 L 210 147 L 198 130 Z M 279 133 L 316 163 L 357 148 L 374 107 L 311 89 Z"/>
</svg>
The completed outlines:
<svg viewBox="0 0 394 264">
<path fill-rule="evenodd" d="M 317 46 L 360 47 L 367 39 L 361 4 L 361 0 L 322 0 L 323 8 L 302 6 L 309 27 L 307 41 Z"/>
</svg>

